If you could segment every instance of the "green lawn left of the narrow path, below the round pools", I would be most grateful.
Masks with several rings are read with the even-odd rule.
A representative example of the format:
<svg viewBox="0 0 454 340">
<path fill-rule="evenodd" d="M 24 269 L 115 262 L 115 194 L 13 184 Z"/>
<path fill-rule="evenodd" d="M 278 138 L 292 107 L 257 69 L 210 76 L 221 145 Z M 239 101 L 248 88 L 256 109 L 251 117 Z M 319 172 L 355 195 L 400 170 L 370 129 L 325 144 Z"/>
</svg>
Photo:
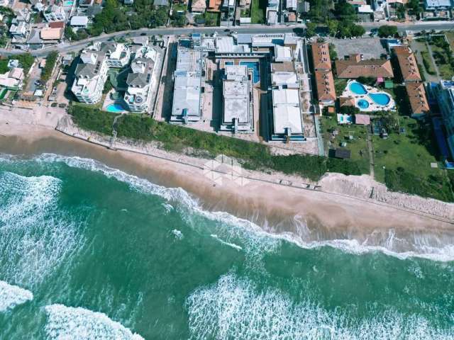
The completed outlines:
<svg viewBox="0 0 454 340">
<path fill-rule="evenodd" d="M 351 151 L 351 159 L 358 164 L 362 174 L 369 174 L 370 162 L 367 151 L 367 130 L 364 125 L 338 125 L 336 116 L 326 116 L 321 119 L 321 130 L 325 149 L 341 147 L 341 142 L 346 142 L 346 149 Z M 331 131 L 338 130 L 338 135 L 333 136 Z M 350 140 L 349 136 L 353 136 Z"/>
</svg>

